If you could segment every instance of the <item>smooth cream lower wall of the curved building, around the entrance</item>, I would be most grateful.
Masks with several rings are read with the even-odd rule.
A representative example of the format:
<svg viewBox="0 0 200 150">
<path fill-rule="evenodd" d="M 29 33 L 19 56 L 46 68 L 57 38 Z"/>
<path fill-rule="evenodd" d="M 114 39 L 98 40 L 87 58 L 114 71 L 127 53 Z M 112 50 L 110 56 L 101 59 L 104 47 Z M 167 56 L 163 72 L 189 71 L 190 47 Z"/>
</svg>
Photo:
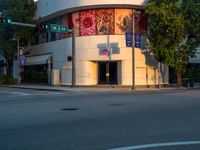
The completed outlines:
<svg viewBox="0 0 200 150">
<path fill-rule="evenodd" d="M 99 54 L 106 44 L 117 43 L 110 46 L 119 49 L 118 54 L 110 57 L 102 57 Z M 67 57 L 71 56 L 71 38 L 44 43 L 29 47 L 30 55 L 52 53 L 53 69 L 61 72 L 61 83 L 71 84 L 71 62 Z M 99 45 L 104 45 L 100 46 Z M 148 58 L 148 61 L 146 61 Z M 77 85 L 98 84 L 98 61 L 119 61 L 118 80 L 121 85 L 132 84 L 132 48 L 125 45 L 125 35 L 101 35 L 76 38 L 76 83 Z M 141 49 L 135 49 L 135 83 L 136 85 L 158 84 L 157 62 L 152 55 L 146 54 Z M 168 67 L 163 65 L 160 83 L 168 84 Z"/>
</svg>

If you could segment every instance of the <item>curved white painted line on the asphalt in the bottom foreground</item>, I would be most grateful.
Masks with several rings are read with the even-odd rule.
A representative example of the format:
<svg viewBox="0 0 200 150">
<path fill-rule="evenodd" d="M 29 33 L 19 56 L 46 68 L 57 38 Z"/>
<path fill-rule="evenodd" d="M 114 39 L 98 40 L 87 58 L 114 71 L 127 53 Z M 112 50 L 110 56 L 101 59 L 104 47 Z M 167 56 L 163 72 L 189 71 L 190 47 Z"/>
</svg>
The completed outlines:
<svg viewBox="0 0 200 150">
<path fill-rule="evenodd" d="M 200 141 L 183 141 L 183 142 L 171 142 L 171 143 L 155 143 L 155 144 L 144 144 L 136 146 L 127 146 L 113 148 L 109 150 L 138 150 L 138 149 L 147 149 L 147 148 L 156 148 L 156 147 L 168 147 L 168 146 L 179 146 L 179 145 L 198 145 Z"/>
</svg>

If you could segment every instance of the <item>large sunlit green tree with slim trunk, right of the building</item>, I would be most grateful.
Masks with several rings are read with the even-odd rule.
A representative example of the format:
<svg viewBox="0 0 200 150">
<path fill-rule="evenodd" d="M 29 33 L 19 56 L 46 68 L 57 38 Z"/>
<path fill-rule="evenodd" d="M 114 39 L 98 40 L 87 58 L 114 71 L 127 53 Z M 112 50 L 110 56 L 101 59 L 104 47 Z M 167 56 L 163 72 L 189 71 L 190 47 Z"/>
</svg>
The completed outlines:
<svg viewBox="0 0 200 150">
<path fill-rule="evenodd" d="M 200 46 L 199 6 L 198 0 L 149 0 L 146 6 L 150 49 L 159 62 L 176 70 L 178 86 Z"/>
</svg>

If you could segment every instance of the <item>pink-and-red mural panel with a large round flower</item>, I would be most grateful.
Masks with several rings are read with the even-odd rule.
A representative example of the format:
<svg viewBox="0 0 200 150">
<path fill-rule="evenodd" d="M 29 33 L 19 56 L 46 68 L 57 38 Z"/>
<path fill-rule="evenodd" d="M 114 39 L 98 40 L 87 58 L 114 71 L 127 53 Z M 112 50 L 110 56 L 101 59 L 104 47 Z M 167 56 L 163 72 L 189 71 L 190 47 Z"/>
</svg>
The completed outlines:
<svg viewBox="0 0 200 150">
<path fill-rule="evenodd" d="M 80 12 L 80 36 L 96 35 L 95 10 Z"/>
</svg>

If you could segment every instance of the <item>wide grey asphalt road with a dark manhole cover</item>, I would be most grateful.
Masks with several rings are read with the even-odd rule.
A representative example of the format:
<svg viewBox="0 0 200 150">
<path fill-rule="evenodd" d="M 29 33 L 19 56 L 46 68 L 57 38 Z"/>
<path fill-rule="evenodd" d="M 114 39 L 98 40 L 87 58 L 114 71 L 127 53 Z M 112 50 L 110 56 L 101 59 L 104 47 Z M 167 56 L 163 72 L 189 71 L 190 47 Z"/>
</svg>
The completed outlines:
<svg viewBox="0 0 200 150">
<path fill-rule="evenodd" d="M 0 150 L 199 150 L 199 141 L 200 90 L 0 88 Z"/>
</svg>

